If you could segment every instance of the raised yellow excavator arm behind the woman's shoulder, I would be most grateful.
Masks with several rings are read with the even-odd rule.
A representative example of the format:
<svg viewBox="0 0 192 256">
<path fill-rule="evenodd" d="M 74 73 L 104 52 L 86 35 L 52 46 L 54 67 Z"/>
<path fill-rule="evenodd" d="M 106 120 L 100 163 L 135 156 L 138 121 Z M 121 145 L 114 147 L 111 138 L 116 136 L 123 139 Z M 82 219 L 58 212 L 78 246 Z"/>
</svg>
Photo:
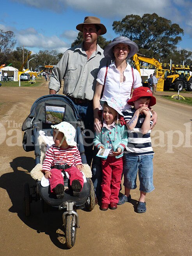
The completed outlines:
<svg viewBox="0 0 192 256">
<path fill-rule="evenodd" d="M 157 73 L 157 77 L 161 76 L 161 78 L 158 80 L 158 83 L 157 83 L 157 91 L 163 91 L 164 90 L 165 69 L 162 68 L 162 65 L 160 64 L 160 62 L 154 58 L 149 58 L 144 55 L 139 55 L 139 54 L 135 53 L 135 55 L 133 55 L 133 63 L 134 63 L 135 69 L 137 69 L 139 71 L 140 75 L 141 75 L 140 62 L 146 62 L 146 63 L 151 64 L 151 68 L 154 66 L 156 73 Z M 147 83 L 145 81 L 142 81 L 142 82 Z"/>
</svg>

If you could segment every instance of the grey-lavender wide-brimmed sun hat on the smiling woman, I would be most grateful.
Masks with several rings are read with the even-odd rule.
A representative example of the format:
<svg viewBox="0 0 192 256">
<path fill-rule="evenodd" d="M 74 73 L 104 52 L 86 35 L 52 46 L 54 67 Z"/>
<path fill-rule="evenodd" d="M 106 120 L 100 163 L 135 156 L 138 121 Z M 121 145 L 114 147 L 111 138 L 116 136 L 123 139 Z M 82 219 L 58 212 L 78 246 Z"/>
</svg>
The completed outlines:
<svg viewBox="0 0 192 256">
<path fill-rule="evenodd" d="M 119 43 L 127 44 L 130 47 L 130 52 L 127 55 L 127 59 L 131 58 L 139 50 L 137 44 L 135 42 L 133 42 L 132 40 L 130 40 L 128 37 L 119 36 L 119 37 L 114 38 L 113 41 L 105 47 L 105 49 L 104 49 L 105 57 L 110 57 L 112 60 L 114 60 L 115 57 L 114 57 L 114 53 L 113 53 L 113 47 Z"/>
</svg>

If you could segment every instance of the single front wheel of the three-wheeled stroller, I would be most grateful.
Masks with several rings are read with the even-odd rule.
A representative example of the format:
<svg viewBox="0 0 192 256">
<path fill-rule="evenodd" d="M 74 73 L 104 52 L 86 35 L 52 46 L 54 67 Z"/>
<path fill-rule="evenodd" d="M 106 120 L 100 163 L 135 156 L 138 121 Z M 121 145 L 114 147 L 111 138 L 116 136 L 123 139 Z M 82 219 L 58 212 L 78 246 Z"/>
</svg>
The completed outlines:
<svg viewBox="0 0 192 256">
<path fill-rule="evenodd" d="M 76 215 L 66 215 L 66 225 L 65 225 L 65 234 L 66 234 L 66 244 L 68 248 L 71 248 L 75 245 L 76 238 Z"/>
</svg>

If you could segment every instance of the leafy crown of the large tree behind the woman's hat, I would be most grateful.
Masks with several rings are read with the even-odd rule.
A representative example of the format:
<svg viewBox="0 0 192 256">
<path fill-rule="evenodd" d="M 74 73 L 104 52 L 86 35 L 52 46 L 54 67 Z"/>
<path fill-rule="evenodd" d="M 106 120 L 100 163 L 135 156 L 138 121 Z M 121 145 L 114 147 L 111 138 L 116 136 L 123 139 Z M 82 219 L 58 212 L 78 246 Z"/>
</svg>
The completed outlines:
<svg viewBox="0 0 192 256">
<path fill-rule="evenodd" d="M 139 46 L 139 53 L 148 57 L 165 59 L 176 50 L 181 41 L 183 29 L 170 20 L 159 17 L 156 13 L 127 15 L 122 21 L 113 22 L 113 30 L 119 36 L 129 37 Z"/>
</svg>

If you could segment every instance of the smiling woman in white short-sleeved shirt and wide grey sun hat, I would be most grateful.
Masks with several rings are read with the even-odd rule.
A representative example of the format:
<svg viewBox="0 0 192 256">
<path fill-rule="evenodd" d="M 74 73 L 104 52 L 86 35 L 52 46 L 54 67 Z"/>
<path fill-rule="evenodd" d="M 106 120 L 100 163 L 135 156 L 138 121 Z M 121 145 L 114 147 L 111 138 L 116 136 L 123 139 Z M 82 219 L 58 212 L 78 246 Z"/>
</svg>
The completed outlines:
<svg viewBox="0 0 192 256">
<path fill-rule="evenodd" d="M 103 67 L 98 72 L 96 90 L 93 98 L 94 129 L 101 131 L 101 120 L 98 115 L 100 109 L 100 98 L 103 91 L 102 101 L 108 98 L 121 98 L 124 102 L 124 110 L 130 108 L 127 101 L 130 99 L 132 88 L 142 86 L 139 72 L 131 68 L 126 59 L 138 52 L 138 46 L 128 37 L 119 36 L 113 39 L 104 49 L 105 57 L 110 57 L 112 64 L 108 68 Z M 103 89 L 104 86 L 104 89 Z M 153 123 L 156 123 L 156 113 L 153 112 Z"/>
</svg>

